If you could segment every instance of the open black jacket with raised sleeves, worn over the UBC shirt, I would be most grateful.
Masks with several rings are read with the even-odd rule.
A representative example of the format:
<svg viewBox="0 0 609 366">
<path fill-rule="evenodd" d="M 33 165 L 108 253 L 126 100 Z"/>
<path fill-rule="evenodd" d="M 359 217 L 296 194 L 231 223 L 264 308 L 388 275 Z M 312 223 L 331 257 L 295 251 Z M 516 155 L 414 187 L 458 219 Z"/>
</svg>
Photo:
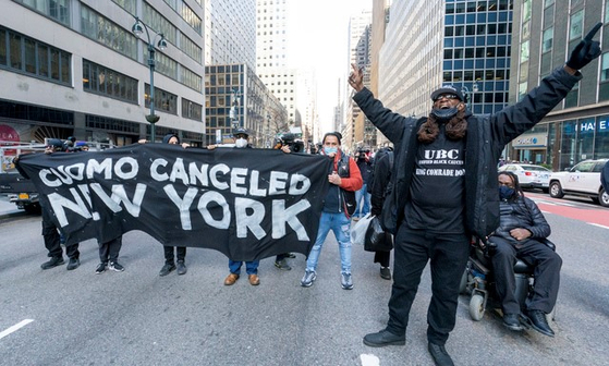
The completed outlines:
<svg viewBox="0 0 609 366">
<path fill-rule="evenodd" d="M 472 234 L 486 237 L 499 225 L 497 161 L 506 144 L 539 122 L 581 78 L 580 73 L 571 75 L 560 68 L 514 106 L 492 115 L 473 115 L 467 112 L 465 225 Z M 355 94 L 353 99 L 394 146 L 393 190 L 387 197 L 387 209 L 382 212 L 387 230 L 394 233 L 404 220 L 404 206 L 410 195 L 418 147 L 418 125 L 425 118 L 417 121 L 393 113 L 366 88 Z"/>
</svg>

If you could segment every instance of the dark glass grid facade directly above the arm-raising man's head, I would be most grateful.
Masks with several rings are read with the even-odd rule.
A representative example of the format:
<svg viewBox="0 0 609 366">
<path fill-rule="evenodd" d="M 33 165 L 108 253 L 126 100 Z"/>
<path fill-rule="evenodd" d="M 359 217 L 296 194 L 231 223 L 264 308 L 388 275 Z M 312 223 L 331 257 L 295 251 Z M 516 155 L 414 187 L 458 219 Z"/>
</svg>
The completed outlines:
<svg viewBox="0 0 609 366">
<path fill-rule="evenodd" d="M 446 2 L 442 83 L 462 87 L 474 113 L 508 103 L 512 0 Z"/>
</svg>

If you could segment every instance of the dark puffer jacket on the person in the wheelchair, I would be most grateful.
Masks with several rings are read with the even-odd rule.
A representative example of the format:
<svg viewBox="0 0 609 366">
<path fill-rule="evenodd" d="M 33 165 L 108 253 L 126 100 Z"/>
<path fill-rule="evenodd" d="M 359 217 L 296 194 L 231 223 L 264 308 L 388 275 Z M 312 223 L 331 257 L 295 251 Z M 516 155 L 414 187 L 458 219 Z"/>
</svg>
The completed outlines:
<svg viewBox="0 0 609 366">
<path fill-rule="evenodd" d="M 494 235 L 503 237 L 510 243 L 522 244 L 522 241 L 519 242 L 510 235 L 510 230 L 517 228 L 531 231 L 532 235 L 528 239 L 543 240 L 550 236 L 551 229 L 544 213 L 533 200 L 524 196 L 519 195 L 513 200 L 502 199 L 499 203 L 499 228 Z"/>
</svg>

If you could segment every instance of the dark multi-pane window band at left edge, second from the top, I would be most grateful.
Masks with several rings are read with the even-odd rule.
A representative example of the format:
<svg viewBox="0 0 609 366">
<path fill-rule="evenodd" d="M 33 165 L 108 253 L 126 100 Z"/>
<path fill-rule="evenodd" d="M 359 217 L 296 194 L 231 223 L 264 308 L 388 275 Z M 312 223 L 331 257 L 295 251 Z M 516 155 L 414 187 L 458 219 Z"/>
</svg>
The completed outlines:
<svg viewBox="0 0 609 366">
<path fill-rule="evenodd" d="M 0 27 L 0 68 L 2 69 L 71 85 L 71 60 L 72 56 L 59 48 Z"/>
</svg>

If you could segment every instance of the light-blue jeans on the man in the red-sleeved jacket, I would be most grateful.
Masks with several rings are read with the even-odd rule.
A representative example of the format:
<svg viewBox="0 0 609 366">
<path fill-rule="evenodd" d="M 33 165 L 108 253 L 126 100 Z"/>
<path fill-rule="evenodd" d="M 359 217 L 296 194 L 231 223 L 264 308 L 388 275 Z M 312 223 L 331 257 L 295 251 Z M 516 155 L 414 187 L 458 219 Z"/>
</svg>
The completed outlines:
<svg viewBox="0 0 609 366">
<path fill-rule="evenodd" d="M 329 213 L 321 212 L 321 219 L 319 220 L 319 229 L 317 231 L 317 240 L 310 248 L 310 253 L 306 259 L 306 270 L 314 271 L 317 268 L 317 261 L 319 260 L 319 253 L 321 253 L 321 246 L 328 236 L 330 229 L 337 236 L 339 242 L 339 252 L 341 256 L 341 273 L 351 273 L 351 235 L 350 235 L 351 220 L 344 215 L 344 212 Z"/>
</svg>

